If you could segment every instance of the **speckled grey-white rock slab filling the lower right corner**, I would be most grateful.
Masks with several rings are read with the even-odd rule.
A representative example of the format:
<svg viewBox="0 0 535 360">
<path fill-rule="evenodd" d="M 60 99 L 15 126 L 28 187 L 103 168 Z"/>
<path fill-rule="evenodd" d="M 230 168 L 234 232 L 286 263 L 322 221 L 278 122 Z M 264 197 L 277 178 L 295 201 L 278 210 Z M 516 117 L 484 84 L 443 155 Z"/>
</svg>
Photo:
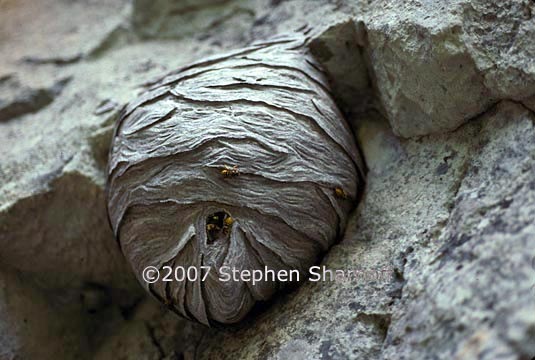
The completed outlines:
<svg viewBox="0 0 535 360">
<path fill-rule="evenodd" d="M 383 358 L 535 355 L 535 323 L 522 315 L 535 308 L 534 121 L 506 102 L 474 124 L 449 219 L 405 267 Z"/>
</svg>

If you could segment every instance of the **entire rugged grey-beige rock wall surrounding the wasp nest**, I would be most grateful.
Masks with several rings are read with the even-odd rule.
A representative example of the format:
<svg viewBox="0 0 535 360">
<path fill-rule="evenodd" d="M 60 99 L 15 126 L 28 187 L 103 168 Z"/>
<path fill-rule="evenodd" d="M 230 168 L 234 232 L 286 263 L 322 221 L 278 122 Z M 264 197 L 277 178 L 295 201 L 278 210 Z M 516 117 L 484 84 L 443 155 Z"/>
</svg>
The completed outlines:
<svg viewBox="0 0 535 360">
<path fill-rule="evenodd" d="M 0 1 L 0 359 L 531 359 L 535 3 Z M 51 20 L 53 19 L 53 21 Z M 304 282 L 233 327 L 147 297 L 104 203 L 144 85 L 308 29 L 368 167 Z"/>
</svg>

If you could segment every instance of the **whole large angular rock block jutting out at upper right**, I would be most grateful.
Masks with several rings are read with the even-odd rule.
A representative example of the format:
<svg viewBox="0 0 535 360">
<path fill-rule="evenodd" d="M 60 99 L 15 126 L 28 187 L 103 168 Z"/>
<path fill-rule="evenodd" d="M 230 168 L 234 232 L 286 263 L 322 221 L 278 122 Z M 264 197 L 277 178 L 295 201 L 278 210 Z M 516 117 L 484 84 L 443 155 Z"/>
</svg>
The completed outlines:
<svg viewBox="0 0 535 360">
<path fill-rule="evenodd" d="M 535 92 L 533 3 L 379 1 L 365 26 L 369 63 L 392 128 L 457 128 L 501 99 Z"/>
</svg>

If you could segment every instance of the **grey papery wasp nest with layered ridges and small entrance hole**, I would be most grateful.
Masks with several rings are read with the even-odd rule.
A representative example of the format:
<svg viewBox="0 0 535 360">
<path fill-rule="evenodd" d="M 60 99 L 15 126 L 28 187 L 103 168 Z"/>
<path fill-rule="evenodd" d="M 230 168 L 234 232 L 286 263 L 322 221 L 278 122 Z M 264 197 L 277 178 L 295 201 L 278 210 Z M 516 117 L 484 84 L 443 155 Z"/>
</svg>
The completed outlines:
<svg viewBox="0 0 535 360">
<path fill-rule="evenodd" d="M 306 274 L 343 231 L 361 160 L 302 37 L 256 43 L 160 80 L 124 109 L 108 212 L 140 282 L 184 317 L 241 320 L 281 282 L 218 269 Z M 147 266 L 210 266 L 202 281 L 142 279 Z"/>
</svg>

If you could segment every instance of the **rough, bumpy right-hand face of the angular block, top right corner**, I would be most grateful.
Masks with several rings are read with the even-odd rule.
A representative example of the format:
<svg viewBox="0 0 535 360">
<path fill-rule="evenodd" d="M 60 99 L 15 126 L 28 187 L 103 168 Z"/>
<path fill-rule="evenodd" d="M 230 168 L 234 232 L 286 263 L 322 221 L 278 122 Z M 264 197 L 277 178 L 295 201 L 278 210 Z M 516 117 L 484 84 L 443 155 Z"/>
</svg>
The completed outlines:
<svg viewBox="0 0 535 360">
<path fill-rule="evenodd" d="M 535 3 L 466 1 L 460 9 L 464 41 L 491 96 L 535 95 Z"/>
</svg>

